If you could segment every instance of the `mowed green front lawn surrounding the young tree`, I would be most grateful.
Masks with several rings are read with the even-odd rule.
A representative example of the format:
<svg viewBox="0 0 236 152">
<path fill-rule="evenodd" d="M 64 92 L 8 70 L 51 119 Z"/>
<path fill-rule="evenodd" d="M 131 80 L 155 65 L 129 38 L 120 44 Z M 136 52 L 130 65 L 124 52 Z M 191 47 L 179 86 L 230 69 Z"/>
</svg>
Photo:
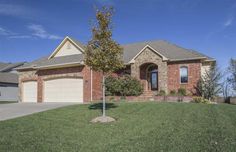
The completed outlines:
<svg viewBox="0 0 236 152">
<path fill-rule="evenodd" d="M 236 106 L 185 103 L 76 105 L 0 122 L 0 151 L 235 151 Z"/>
</svg>

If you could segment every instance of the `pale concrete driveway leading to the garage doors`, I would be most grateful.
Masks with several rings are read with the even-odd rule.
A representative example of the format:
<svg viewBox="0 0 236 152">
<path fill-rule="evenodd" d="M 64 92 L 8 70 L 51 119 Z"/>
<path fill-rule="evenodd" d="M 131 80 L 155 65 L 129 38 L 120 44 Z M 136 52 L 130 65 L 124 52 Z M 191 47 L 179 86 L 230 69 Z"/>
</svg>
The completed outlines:
<svg viewBox="0 0 236 152">
<path fill-rule="evenodd" d="M 11 103 L 0 104 L 0 121 L 56 109 L 78 103 Z"/>
</svg>

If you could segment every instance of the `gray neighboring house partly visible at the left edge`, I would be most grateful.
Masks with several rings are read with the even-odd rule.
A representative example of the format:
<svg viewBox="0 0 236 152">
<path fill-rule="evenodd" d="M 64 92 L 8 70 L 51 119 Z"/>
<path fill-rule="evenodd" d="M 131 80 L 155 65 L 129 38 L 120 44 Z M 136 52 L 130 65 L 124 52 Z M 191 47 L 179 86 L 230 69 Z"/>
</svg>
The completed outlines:
<svg viewBox="0 0 236 152">
<path fill-rule="evenodd" d="M 20 63 L 0 62 L 0 102 L 18 101 L 18 75 L 14 68 L 22 66 Z"/>
</svg>

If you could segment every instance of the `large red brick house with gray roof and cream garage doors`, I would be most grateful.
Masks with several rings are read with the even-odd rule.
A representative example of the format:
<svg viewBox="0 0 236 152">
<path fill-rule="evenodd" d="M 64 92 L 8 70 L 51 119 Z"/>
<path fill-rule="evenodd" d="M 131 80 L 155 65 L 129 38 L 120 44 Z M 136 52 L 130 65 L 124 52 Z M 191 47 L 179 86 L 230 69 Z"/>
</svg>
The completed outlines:
<svg viewBox="0 0 236 152">
<path fill-rule="evenodd" d="M 166 41 L 123 45 L 126 68 L 117 74 L 139 79 L 146 92 L 184 87 L 194 93 L 201 74 L 215 60 Z M 51 55 L 19 71 L 22 102 L 88 102 L 102 96 L 101 74 L 83 62 L 84 45 L 66 37 Z"/>
</svg>

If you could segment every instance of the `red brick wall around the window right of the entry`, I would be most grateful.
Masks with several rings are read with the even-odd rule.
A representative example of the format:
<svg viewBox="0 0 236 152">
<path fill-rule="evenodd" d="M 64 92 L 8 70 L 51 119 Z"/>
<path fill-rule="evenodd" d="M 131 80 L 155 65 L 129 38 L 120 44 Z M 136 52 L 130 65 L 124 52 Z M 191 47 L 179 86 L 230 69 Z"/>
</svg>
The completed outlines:
<svg viewBox="0 0 236 152">
<path fill-rule="evenodd" d="M 188 83 L 180 83 L 180 67 L 188 67 Z M 189 93 L 195 93 L 195 86 L 201 76 L 200 61 L 170 62 L 168 63 L 168 90 L 185 88 Z"/>
</svg>

